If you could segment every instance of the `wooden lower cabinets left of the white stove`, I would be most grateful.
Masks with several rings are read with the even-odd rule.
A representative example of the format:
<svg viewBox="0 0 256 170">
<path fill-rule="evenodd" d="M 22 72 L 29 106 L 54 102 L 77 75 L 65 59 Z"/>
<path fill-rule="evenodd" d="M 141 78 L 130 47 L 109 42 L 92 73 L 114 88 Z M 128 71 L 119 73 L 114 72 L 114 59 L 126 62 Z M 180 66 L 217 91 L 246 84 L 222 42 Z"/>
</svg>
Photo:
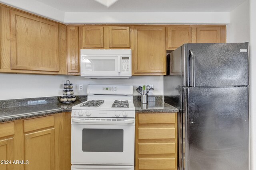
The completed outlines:
<svg viewBox="0 0 256 170">
<path fill-rule="evenodd" d="M 0 123 L 0 160 L 12 162 L 0 164 L 0 170 L 70 170 L 70 115 Z"/>
</svg>

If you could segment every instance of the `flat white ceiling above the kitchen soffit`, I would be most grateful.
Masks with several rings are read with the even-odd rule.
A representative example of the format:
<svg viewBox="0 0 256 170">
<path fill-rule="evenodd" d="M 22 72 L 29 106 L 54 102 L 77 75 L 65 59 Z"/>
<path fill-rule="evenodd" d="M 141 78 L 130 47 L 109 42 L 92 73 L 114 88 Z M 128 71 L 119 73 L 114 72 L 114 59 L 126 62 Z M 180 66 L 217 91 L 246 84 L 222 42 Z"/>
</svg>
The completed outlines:
<svg viewBox="0 0 256 170">
<path fill-rule="evenodd" d="M 36 0 L 63 12 L 230 12 L 245 0 Z M 107 2 L 110 4 L 107 7 Z M 111 3 L 112 2 L 112 3 Z"/>
</svg>

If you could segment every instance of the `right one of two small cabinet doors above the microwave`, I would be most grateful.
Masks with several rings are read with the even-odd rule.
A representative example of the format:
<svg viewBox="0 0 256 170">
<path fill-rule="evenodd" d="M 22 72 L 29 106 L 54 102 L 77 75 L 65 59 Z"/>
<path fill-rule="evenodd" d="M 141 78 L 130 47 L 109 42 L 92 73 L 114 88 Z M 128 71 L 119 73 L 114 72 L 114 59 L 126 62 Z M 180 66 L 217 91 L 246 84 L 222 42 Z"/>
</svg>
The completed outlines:
<svg viewBox="0 0 256 170">
<path fill-rule="evenodd" d="M 129 48 L 130 27 L 109 27 L 109 47 Z"/>
</svg>

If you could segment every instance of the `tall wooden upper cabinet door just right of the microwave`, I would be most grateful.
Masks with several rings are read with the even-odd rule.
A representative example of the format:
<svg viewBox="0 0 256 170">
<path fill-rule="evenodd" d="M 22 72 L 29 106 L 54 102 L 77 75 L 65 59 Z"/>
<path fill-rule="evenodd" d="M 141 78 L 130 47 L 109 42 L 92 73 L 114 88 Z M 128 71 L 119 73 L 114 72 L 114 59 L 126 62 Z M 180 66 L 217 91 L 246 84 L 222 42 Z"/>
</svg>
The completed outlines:
<svg viewBox="0 0 256 170">
<path fill-rule="evenodd" d="M 164 27 L 134 27 L 133 75 L 166 74 Z"/>
</svg>

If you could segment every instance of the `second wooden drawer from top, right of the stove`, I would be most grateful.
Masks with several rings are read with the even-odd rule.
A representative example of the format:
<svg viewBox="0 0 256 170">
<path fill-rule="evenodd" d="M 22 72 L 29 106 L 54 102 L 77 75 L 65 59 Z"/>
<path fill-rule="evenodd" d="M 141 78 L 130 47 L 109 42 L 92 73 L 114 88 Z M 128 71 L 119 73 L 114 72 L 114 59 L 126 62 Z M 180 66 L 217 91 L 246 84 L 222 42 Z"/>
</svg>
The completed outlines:
<svg viewBox="0 0 256 170">
<path fill-rule="evenodd" d="M 138 139 L 175 139 L 175 128 L 138 128 Z"/>
</svg>

